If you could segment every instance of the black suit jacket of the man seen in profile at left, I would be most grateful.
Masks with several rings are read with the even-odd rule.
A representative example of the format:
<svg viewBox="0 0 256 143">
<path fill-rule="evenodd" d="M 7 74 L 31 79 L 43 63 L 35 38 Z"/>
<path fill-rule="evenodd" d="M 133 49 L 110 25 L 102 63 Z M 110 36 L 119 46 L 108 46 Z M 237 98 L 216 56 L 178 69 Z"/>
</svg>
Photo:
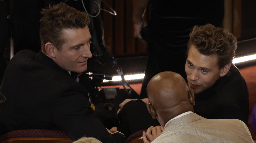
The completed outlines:
<svg viewBox="0 0 256 143">
<path fill-rule="evenodd" d="M 124 142 L 110 134 L 91 109 L 88 93 L 42 52 L 18 52 L 8 64 L 0 92 L 3 132 L 63 129 L 73 140 L 95 137 L 103 143 Z"/>
</svg>

